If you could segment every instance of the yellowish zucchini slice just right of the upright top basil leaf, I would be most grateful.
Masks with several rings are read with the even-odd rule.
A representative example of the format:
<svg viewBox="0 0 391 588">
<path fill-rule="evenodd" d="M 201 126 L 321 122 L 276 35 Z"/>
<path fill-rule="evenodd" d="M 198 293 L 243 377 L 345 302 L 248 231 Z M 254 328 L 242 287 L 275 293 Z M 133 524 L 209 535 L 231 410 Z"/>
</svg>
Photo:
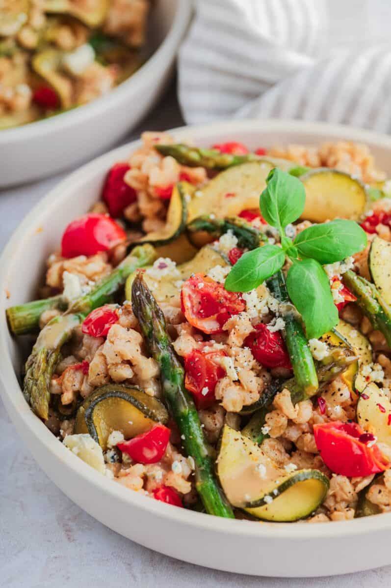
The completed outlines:
<svg viewBox="0 0 391 588">
<path fill-rule="evenodd" d="M 358 220 L 365 212 L 365 186 L 348 173 L 319 168 L 300 179 L 306 194 L 302 219 L 319 223 L 336 218 Z"/>
</svg>

